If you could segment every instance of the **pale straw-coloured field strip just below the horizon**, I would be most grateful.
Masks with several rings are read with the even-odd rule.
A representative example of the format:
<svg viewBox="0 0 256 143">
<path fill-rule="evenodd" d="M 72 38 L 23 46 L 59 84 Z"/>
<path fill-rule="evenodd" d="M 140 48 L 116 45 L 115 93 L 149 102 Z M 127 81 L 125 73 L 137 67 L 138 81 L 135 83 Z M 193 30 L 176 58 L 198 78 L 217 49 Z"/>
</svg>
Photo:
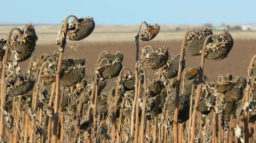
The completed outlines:
<svg viewBox="0 0 256 143">
<path fill-rule="evenodd" d="M 23 25 L 7 25 L 0 24 L 0 38 L 7 35 L 13 27 L 22 28 Z M 37 44 L 55 44 L 59 25 L 38 25 L 35 26 L 36 34 L 39 37 Z M 203 27 L 203 25 L 160 25 L 160 32 L 155 37 L 154 41 L 179 41 L 182 40 L 186 28 Z M 175 32 L 179 27 L 181 31 Z M 134 36 L 137 34 L 138 25 L 96 25 L 93 33 L 81 42 L 112 42 L 112 41 L 134 41 Z M 142 27 L 143 31 L 144 27 Z M 184 30 L 183 30 L 184 29 Z M 213 31 L 218 34 L 221 31 Z M 235 40 L 256 40 L 255 31 L 231 31 Z M 69 44 L 73 42 L 69 41 Z"/>
</svg>

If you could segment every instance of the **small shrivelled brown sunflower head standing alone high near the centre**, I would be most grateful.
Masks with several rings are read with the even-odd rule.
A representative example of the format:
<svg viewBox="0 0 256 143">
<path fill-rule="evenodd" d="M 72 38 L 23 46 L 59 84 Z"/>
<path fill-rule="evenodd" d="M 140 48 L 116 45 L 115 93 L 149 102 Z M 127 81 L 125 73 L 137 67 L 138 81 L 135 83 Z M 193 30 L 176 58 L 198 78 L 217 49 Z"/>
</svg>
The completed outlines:
<svg viewBox="0 0 256 143">
<path fill-rule="evenodd" d="M 146 29 L 143 33 L 139 34 L 139 39 L 142 41 L 150 41 L 158 34 L 160 30 L 160 26 L 156 23 L 154 25 L 148 25 L 146 22 L 144 23 L 146 25 Z"/>
</svg>

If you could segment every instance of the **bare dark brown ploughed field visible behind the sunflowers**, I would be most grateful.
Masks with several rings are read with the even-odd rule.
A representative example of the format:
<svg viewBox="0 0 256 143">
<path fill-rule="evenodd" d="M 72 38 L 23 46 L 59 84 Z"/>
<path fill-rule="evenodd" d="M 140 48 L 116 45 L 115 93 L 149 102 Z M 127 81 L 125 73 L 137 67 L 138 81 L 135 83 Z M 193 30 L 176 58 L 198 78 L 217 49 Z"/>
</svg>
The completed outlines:
<svg viewBox="0 0 256 143">
<path fill-rule="evenodd" d="M 160 33 L 159 33 L 160 34 Z M 182 36 L 181 36 L 182 37 Z M 149 42 L 140 42 L 140 47 L 152 45 L 154 47 L 163 47 L 164 45 L 170 48 L 170 55 L 176 55 L 180 53 L 181 40 L 177 41 L 158 41 L 152 40 Z M 255 54 L 256 40 L 234 40 L 233 49 L 230 51 L 228 58 L 216 61 L 205 60 L 205 75 L 209 78 L 209 81 L 216 81 L 219 74 L 232 73 L 234 76 L 247 76 L 247 67 L 249 66 L 251 57 Z M 52 53 L 57 51 L 57 46 L 53 44 L 38 44 L 33 55 L 39 56 L 43 53 Z M 98 55 L 102 50 L 108 50 L 110 52 L 122 51 L 125 55 L 123 59 L 123 66 L 130 68 L 134 71 L 135 67 L 135 42 L 134 41 L 113 41 L 113 42 L 96 42 L 88 41 L 87 39 L 80 42 L 77 51 L 70 49 L 66 46 L 64 57 L 77 57 L 85 58 L 86 60 L 86 80 L 89 82 L 92 80 L 92 74 L 95 70 L 94 64 L 96 63 Z M 198 67 L 200 64 L 200 56 L 197 57 L 185 57 L 186 67 Z M 27 68 L 28 62 L 20 63 L 23 71 Z M 154 73 L 157 71 L 149 71 L 148 78 L 156 76 Z M 115 78 L 108 80 L 108 86 L 105 90 L 109 90 L 111 86 L 116 84 Z"/>
</svg>

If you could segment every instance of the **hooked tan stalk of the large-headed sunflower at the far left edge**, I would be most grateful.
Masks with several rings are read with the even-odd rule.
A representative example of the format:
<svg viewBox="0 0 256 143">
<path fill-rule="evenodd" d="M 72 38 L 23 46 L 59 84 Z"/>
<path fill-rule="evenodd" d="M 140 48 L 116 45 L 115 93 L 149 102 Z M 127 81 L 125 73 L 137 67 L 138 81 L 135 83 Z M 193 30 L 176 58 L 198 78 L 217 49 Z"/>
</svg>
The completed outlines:
<svg viewBox="0 0 256 143">
<path fill-rule="evenodd" d="M 5 72 L 6 72 L 6 65 L 10 50 L 10 41 L 11 41 L 11 34 L 13 31 L 16 30 L 18 32 L 18 38 L 22 38 L 22 31 L 19 28 L 13 28 L 9 31 L 7 36 L 7 46 L 5 49 L 5 58 L 3 60 L 3 68 L 2 68 L 2 77 L 1 77 L 1 116 L 0 116 L 0 141 L 5 141 L 5 137 L 3 136 L 4 131 L 4 116 L 3 112 L 5 111 L 5 93 L 3 92 L 3 86 L 5 86 Z"/>
</svg>

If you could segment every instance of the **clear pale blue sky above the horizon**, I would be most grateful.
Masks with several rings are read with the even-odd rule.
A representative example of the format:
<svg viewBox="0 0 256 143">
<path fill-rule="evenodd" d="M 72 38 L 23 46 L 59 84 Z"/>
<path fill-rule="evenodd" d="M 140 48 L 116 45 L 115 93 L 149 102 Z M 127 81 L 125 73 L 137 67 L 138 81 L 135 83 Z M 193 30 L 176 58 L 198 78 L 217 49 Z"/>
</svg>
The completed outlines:
<svg viewBox="0 0 256 143">
<path fill-rule="evenodd" d="M 1 0 L 0 23 L 60 24 L 68 15 L 96 24 L 256 23 L 255 0 Z"/>
</svg>

